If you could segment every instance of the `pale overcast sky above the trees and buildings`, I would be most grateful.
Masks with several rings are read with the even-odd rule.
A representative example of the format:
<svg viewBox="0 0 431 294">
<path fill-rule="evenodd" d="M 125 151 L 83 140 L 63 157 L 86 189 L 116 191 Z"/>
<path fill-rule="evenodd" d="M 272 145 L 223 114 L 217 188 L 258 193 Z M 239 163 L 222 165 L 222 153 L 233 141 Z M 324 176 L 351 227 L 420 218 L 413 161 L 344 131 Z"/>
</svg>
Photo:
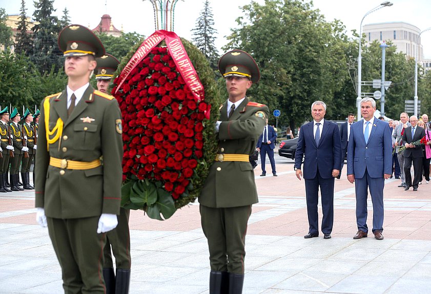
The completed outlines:
<svg viewBox="0 0 431 294">
<path fill-rule="evenodd" d="M 263 0 L 256 2 L 263 4 Z M 315 0 L 314 8 L 319 9 L 327 20 L 340 19 L 346 26 L 348 35 L 351 30 L 359 31 L 362 17 L 377 7 L 383 0 Z M 431 27 L 431 1 L 429 0 L 392 0 L 392 7 L 384 7 L 366 16 L 363 24 L 380 22 L 405 22 L 425 30 Z M 218 30 L 216 46 L 227 43 L 226 35 L 236 26 L 235 19 L 241 15 L 240 6 L 250 0 L 210 0 L 213 9 L 215 28 Z M 18 14 L 21 0 L 0 0 L 0 7 L 7 14 Z M 100 17 L 107 13 L 117 29 L 125 32 L 136 31 L 149 36 L 155 31 L 153 6 L 149 0 L 55 0 L 55 14 L 61 16 L 64 8 L 69 10 L 71 22 L 95 28 Z M 27 15 L 32 16 L 33 0 L 26 0 Z M 201 0 L 179 0 L 175 8 L 174 31 L 181 37 L 191 39 L 191 30 L 203 8 Z M 431 30 L 421 35 L 425 58 L 431 58 Z M 221 51 L 220 51 L 221 53 Z"/>
</svg>

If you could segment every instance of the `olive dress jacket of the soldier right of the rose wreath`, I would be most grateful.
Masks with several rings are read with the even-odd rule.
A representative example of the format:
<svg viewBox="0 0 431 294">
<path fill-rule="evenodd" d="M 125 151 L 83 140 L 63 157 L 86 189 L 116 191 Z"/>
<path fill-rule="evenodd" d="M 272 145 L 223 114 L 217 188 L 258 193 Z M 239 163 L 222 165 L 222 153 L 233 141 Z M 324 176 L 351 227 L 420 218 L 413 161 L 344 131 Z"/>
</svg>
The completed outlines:
<svg viewBox="0 0 431 294">
<path fill-rule="evenodd" d="M 236 207 L 258 202 L 248 156 L 255 151 L 269 109 L 263 104 L 249 102 L 246 97 L 228 118 L 227 105 L 226 101 L 220 107 L 218 153 L 247 154 L 247 162 L 215 161 L 211 165 L 199 196 L 199 203 L 208 207 Z"/>
</svg>

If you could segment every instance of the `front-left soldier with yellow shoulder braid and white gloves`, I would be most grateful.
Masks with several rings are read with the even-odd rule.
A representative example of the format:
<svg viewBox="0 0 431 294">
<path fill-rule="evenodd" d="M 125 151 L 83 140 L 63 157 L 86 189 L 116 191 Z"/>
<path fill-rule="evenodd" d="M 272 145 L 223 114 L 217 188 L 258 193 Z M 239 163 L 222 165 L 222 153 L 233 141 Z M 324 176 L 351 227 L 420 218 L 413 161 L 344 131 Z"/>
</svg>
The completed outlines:
<svg viewBox="0 0 431 294">
<path fill-rule="evenodd" d="M 106 293 L 106 232 L 117 225 L 122 127 L 117 100 L 91 87 L 99 38 L 80 25 L 58 36 L 66 89 L 40 106 L 36 152 L 36 221 L 48 225 L 65 293 Z M 102 160 L 101 160 L 102 158 Z"/>
</svg>

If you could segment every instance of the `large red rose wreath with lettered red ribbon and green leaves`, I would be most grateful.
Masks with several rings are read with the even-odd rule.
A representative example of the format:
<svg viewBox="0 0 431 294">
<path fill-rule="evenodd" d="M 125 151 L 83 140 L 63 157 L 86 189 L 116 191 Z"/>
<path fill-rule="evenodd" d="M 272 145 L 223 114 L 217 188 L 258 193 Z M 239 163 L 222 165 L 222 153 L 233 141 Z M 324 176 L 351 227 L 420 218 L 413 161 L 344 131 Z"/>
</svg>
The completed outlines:
<svg viewBox="0 0 431 294">
<path fill-rule="evenodd" d="M 112 90 L 123 120 L 121 206 L 159 220 L 199 196 L 217 150 L 214 73 L 197 48 L 179 40 L 155 32 L 121 62 Z"/>
</svg>

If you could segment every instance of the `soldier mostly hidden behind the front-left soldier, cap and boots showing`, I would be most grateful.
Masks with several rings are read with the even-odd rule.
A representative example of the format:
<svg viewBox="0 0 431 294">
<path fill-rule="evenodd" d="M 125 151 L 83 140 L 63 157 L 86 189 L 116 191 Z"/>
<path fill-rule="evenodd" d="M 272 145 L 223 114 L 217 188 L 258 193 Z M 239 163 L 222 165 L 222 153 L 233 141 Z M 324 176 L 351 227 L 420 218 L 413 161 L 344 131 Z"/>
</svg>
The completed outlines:
<svg viewBox="0 0 431 294">
<path fill-rule="evenodd" d="M 97 90 L 108 93 L 109 84 L 120 62 L 111 54 L 96 58 L 96 61 L 97 68 L 94 73 Z M 129 293 L 131 267 L 129 215 L 130 210 L 121 207 L 117 227 L 107 233 L 103 268 L 107 294 Z M 111 248 L 115 257 L 116 274 L 114 274 Z"/>
</svg>

